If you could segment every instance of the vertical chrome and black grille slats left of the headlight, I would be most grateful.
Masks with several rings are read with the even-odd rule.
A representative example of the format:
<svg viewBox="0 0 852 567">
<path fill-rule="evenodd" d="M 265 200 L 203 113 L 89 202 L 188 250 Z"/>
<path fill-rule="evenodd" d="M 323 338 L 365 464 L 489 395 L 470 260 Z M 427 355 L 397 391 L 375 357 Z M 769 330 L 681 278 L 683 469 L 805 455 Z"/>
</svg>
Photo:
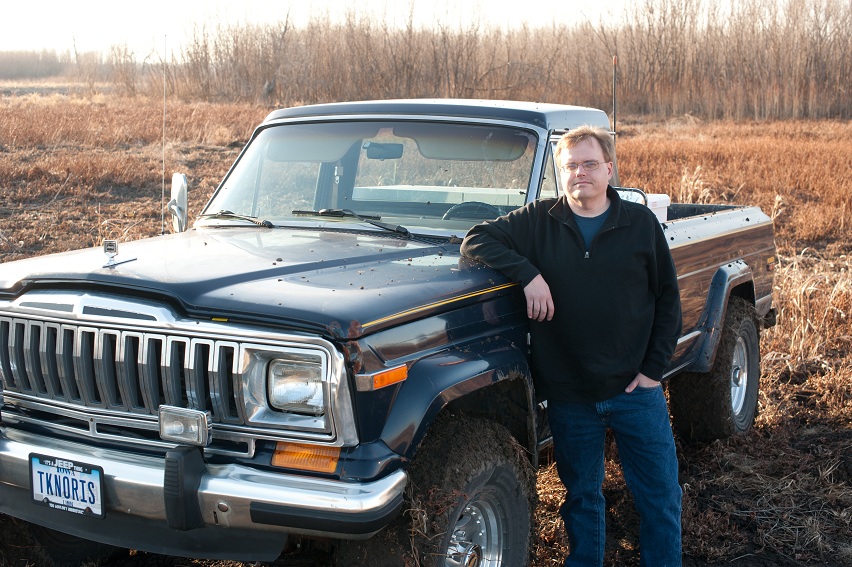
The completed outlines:
<svg viewBox="0 0 852 567">
<path fill-rule="evenodd" d="M 154 416 L 166 404 L 243 424 L 239 348 L 220 339 L 0 317 L 5 390 L 86 408 Z"/>
</svg>

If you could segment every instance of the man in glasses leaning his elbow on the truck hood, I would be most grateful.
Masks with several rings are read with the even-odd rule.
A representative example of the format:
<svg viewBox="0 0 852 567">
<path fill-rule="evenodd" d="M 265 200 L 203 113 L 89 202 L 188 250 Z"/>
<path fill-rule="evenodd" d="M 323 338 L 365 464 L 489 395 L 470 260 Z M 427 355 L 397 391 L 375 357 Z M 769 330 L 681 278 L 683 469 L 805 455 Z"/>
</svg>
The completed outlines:
<svg viewBox="0 0 852 567">
<path fill-rule="evenodd" d="M 567 489 L 566 566 L 603 564 L 604 444 L 612 429 L 640 516 L 640 560 L 681 565 L 681 501 L 660 386 L 681 331 L 671 253 L 650 209 L 609 186 L 612 137 L 584 126 L 555 149 L 563 194 L 473 227 L 465 256 L 520 282 L 536 388 Z"/>
</svg>

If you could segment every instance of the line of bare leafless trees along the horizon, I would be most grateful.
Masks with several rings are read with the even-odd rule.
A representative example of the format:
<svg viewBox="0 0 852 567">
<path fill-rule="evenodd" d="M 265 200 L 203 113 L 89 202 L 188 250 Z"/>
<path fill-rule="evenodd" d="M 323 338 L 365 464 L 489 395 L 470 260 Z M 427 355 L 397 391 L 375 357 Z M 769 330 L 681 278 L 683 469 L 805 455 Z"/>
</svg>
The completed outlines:
<svg viewBox="0 0 852 567">
<path fill-rule="evenodd" d="M 127 95 L 270 106 L 408 97 L 517 99 L 708 119 L 852 116 L 848 0 L 644 0 L 613 22 L 508 29 L 289 18 L 195 28 L 163 60 L 127 46 L 74 72 Z M 5 67 L 0 54 L 0 78 Z M 83 54 L 87 55 L 87 54 Z M 42 54 L 43 57 L 43 54 Z"/>
</svg>

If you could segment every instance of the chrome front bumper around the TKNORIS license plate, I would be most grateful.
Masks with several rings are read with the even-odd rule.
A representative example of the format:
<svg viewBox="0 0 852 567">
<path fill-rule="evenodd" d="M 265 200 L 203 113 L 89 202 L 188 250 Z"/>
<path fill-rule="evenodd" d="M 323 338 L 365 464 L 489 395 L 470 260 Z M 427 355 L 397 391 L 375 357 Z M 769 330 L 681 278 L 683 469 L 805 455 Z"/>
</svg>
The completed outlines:
<svg viewBox="0 0 852 567">
<path fill-rule="evenodd" d="M 30 453 L 101 466 L 105 517 L 36 504 L 30 488 Z M 270 561 L 278 557 L 290 534 L 369 537 L 397 515 L 407 483 L 403 471 L 355 483 L 207 464 L 198 478 L 183 483 L 197 486 L 186 496 L 200 512 L 199 522 L 187 529 L 174 520 L 181 514 L 174 509 L 174 498 L 164 495 L 165 468 L 162 457 L 0 428 L 0 512 L 119 547 L 185 557 Z"/>
</svg>

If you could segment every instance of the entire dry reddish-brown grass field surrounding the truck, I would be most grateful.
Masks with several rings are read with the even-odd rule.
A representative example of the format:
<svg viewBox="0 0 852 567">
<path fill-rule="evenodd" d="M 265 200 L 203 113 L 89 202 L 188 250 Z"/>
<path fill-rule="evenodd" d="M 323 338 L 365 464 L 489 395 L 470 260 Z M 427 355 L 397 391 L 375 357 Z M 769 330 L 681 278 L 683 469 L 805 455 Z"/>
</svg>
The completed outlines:
<svg viewBox="0 0 852 567">
<path fill-rule="evenodd" d="M 170 103 L 164 151 L 157 101 L 3 97 L 0 262 L 159 234 L 164 156 L 167 179 L 188 175 L 198 213 L 268 110 Z M 776 225 L 779 317 L 761 339 L 756 426 L 679 446 L 685 564 L 852 565 L 852 124 L 686 116 L 625 120 L 619 132 L 623 185 L 676 202 L 758 204 Z M 608 565 L 636 566 L 637 518 L 614 450 L 607 471 Z M 538 489 L 533 565 L 561 565 L 564 493 L 552 466 Z M 0 565 L 36 565 L 17 522 L 0 522 Z M 238 565 L 144 553 L 110 564 Z"/>
</svg>

